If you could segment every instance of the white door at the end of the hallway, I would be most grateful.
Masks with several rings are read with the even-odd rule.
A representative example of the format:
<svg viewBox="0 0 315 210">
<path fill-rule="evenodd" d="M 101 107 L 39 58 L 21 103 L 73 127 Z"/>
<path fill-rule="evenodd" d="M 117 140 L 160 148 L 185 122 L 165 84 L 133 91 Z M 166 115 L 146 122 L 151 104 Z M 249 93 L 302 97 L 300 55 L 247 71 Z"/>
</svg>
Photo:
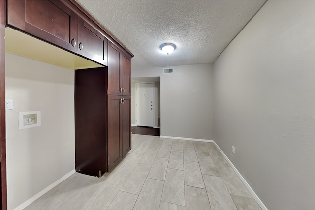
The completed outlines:
<svg viewBox="0 0 315 210">
<path fill-rule="evenodd" d="M 153 127 L 154 83 L 136 83 L 136 116 L 138 126 Z"/>
</svg>

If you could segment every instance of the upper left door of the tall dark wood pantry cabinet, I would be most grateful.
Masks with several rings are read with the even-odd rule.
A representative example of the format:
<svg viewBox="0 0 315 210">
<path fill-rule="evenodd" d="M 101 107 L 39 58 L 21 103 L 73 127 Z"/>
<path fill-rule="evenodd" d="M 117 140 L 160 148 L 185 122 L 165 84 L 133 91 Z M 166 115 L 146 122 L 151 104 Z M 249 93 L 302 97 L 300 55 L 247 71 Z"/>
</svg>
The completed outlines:
<svg viewBox="0 0 315 210">
<path fill-rule="evenodd" d="M 107 73 L 107 94 L 122 94 L 122 52 L 113 43 L 108 43 L 108 73 Z"/>
</svg>

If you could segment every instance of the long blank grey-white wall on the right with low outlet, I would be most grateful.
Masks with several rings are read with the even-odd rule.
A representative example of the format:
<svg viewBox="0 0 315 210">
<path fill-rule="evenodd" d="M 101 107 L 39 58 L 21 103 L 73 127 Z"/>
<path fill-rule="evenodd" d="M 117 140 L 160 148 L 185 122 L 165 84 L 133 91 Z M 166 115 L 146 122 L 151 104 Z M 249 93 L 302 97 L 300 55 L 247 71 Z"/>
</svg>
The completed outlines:
<svg viewBox="0 0 315 210">
<path fill-rule="evenodd" d="M 214 63 L 215 141 L 269 210 L 315 207 L 314 11 L 267 1 Z"/>
</svg>

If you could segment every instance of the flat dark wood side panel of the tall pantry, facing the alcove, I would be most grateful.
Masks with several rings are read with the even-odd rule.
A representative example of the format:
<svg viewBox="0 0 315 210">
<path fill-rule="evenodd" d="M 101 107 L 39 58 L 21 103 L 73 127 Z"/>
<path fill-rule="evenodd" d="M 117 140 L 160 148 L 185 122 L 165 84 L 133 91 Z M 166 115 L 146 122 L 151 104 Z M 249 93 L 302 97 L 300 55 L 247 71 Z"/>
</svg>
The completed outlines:
<svg viewBox="0 0 315 210">
<path fill-rule="evenodd" d="M 106 67 L 75 71 L 75 168 L 101 176 L 107 172 Z"/>
</svg>

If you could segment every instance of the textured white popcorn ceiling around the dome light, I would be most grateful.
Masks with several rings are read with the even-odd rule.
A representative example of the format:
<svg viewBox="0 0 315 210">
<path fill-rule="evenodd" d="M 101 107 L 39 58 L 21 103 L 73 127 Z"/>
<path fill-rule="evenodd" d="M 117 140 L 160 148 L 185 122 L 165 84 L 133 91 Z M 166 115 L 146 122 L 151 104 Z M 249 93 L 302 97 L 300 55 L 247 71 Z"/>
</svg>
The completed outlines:
<svg viewBox="0 0 315 210">
<path fill-rule="evenodd" d="M 76 0 L 134 54 L 132 68 L 212 63 L 265 0 Z M 165 55 L 159 46 L 174 43 Z"/>
</svg>

